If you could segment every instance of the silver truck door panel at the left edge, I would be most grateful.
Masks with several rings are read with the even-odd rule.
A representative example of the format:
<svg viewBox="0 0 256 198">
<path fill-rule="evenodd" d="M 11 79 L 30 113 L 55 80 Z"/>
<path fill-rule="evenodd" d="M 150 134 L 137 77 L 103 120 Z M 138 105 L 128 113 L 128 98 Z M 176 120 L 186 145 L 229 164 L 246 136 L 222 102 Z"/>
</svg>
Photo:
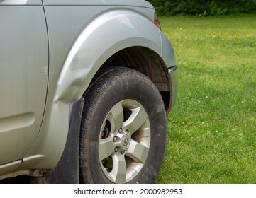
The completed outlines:
<svg viewBox="0 0 256 198">
<path fill-rule="evenodd" d="M 41 0 L 0 0 L 0 173 L 38 136 L 48 86 L 48 36 Z"/>
</svg>

